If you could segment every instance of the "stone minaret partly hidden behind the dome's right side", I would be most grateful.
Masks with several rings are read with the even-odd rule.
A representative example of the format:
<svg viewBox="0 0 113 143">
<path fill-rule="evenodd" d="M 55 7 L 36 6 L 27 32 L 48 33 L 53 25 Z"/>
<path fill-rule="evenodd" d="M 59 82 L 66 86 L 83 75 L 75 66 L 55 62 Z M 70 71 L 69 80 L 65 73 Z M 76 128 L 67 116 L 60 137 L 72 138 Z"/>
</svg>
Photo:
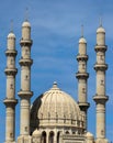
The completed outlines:
<svg viewBox="0 0 113 143">
<path fill-rule="evenodd" d="M 79 40 L 79 54 L 77 55 L 78 61 L 78 73 L 76 74 L 76 77 L 78 79 L 78 105 L 80 107 L 80 110 L 83 112 L 86 117 L 86 128 L 84 131 L 87 131 L 87 110 L 90 106 L 87 101 L 87 79 L 89 77 L 89 74 L 87 73 L 87 41 L 83 37 L 83 30 L 81 33 L 81 37 Z"/>
</svg>

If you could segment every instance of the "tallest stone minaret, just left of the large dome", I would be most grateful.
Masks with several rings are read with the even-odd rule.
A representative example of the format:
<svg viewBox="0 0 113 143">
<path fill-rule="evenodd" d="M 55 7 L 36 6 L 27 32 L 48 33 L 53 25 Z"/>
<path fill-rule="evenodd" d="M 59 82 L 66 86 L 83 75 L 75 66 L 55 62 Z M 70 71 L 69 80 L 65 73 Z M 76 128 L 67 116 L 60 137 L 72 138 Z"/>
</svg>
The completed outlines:
<svg viewBox="0 0 113 143">
<path fill-rule="evenodd" d="M 20 135 L 30 135 L 30 106 L 31 97 L 33 92 L 31 91 L 31 66 L 33 59 L 31 59 L 31 24 L 29 21 L 22 24 L 22 38 L 20 41 L 22 47 L 22 56 L 20 59 L 21 66 L 21 89 L 18 92 L 21 99 L 21 113 L 20 113 Z"/>
</svg>

